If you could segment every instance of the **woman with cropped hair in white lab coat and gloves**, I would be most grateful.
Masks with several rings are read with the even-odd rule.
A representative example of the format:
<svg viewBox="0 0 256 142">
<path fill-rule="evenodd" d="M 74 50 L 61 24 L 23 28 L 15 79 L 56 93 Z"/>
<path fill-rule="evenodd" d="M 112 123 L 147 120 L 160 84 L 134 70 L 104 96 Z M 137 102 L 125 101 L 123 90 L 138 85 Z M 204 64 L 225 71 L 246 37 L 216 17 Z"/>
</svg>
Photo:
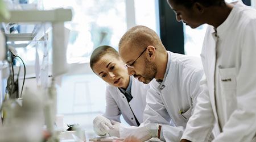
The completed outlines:
<svg viewBox="0 0 256 142">
<path fill-rule="evenodd" d="M 90 57 L 93 72 L 108 83 L 106 111 L 103 116 L 97 116 L 93 120 L 97 135 L 104 136 L 109 133 L 110 136 L 123 137 L 129 133 L 125 131 L 127 126 L 117 123 L 120 122 L 120 115 L 131 126 L 139 126 L 143 122 L 149 86 L 129 77 L 124 65 L 118 52 L 106 45 L 96 48 Z"/>
</svg>

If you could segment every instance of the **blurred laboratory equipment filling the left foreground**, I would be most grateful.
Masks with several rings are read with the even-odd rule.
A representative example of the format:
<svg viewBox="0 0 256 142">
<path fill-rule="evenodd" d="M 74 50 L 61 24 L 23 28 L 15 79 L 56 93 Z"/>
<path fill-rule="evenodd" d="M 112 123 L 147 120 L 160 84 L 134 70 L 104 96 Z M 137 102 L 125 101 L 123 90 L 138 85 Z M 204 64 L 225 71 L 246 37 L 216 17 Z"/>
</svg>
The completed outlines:
<svg viewBox="0 0 256 142">
<path fill-rule="evenodd" d="M 0 2 L 2 2 L 0 0 Z M 1 3 L 0 3 L 1 4 Z M 1 6 L 1 5 L 0 5 Z M 0 13 L 0 22 L 3 25 L 3 31 L 5 34 L 0 35 L 1 45 L 0 53 L 1 60 L 5 60 L 6 53 L 5 45 L 7 43 L 10 47 L 34 47 L 36 42 L 42 37 L 45 37 L 46 31 L 52 31 L 53 41 L 53 65 L 63 64 L 58 69 L 61 72 L 56 72 L 53 68 L 52 82 L 49 87 L 36 89 L 36 91 L 30 91 L 26 89 L 24 91 L 24 97 L 21 99 L 6 99 L 2 105 L 2 110 L 5 111 L 5 119 L 3 120 L 3 127 L 0 127 L 0 141 L 42 141 L 42 122 L 46 122 L 47 131 L 50 133 L 48 141 L 59 141 L 58 133 L 54 129 L 54 122 L 56 116 L 56 88 L 55 78 L 61 76 L 61 74 L 67 71 L 67 65 L 65 54 L 60 55 L 57 52 L 65 53 L 65 46 L 63 43 L 67 43 L 68 35 L 62 31 L 66 31 L 64 28 L 64 21 L 72 19 L 72 11 L 70 9 L 56 9 L 56 10 L 15 10 L 8 12 L 10 16 L 3 16 Z M 10 33 L 5 29 L 7 23 L 15 23 L 17 25 L 24 23 L 34 24 L 34 30 L 31 33 Z M 22 22 L 22 23 L 19 23 Z M 51 30 L 52 29 L 52 30 Z M 60 33 L 62 34 L 60 34 Z M 3 37 L 7 37 L 6 41 Z M 28 41 L 27 43 L 16 44 L 16 41 Z M 2 52 L 3 51 L 3 52 Z M 15 50 L 14 50 L 15 51 Z M 14 53 L 14 52 L 13 52 Z M 15 53 L 18 55 L 19 53 Z M 15 55 L 15 56 L 16 56 Z M 55 61 L 61 58 L 60 60 Z M 12 61 L 12 60 L 11 60 Z M 8 66 L 6 68 L 9 68 Z M 14 70 L 14 69 L 12 69 Z M 14 74 L 14 73 L 13 73 Z M 48 78 L 48 72 L 47 72 Z M 1 78 L 2 79 L 2 78 Z M 32 93 L 35 92 L 36 94 Z M 44 101 L 42 101 L 44 100 Z M 44 118 L 42 120 L 41 118 Z"/>
</svg>

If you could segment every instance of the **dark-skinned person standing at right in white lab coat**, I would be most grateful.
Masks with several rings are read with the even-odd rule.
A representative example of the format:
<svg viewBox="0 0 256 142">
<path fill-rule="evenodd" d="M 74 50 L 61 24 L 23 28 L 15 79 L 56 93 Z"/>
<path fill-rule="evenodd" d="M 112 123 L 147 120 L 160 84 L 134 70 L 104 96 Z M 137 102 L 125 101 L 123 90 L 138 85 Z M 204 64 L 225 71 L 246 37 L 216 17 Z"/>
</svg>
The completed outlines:
<svg viewBox="0 0 256 142">
<path fill-rule="evenodd" d="M 191 28 L 207 23 L 201 59 L 204 94 L 181 141 L 205 141 L 217 123 L 215 141 L 256 141 L 256 10 L 242 1 L 169 0 Z"/>
</svg>

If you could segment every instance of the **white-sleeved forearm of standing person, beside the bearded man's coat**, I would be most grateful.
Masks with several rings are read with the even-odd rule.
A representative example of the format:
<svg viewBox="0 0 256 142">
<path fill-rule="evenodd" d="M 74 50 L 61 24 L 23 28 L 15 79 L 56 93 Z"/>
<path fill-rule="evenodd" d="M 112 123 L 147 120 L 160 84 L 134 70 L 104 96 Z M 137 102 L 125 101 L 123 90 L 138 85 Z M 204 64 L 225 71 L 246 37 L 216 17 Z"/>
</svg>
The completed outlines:
<svg viewBox="0 0 256 142">
<path fill-rule="evenodd" d="M 207 81 L 200 82 L 203 92 L 197 97 L 197 104 L 193 115 L 189 118 L 186 129 L 181 139 L 190 141 L 208 141 L 214 127 L 214 115 Z"/>
</svg>

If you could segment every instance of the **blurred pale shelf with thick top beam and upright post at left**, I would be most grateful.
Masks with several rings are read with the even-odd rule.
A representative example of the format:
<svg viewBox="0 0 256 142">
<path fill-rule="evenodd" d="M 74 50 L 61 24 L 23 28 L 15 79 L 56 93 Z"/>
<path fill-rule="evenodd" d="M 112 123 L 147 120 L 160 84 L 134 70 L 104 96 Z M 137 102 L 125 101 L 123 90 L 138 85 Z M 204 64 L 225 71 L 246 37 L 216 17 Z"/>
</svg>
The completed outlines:
<svg viewBox="0 0 256 142">
<path fill-rule="evenodd" d="M 0 15 L 0 22 L 2 23 L 17 23 L 18 25 L 22 23 L 32 23 L 35 25 L 34 29 L 30 33 L 22 34 L 9 34 L 5 29 L 5 24 L 3 28 L 7 36 L 7 41 L 12 47 L 31 47 L 36 44 L 36 42 L 44 38 L 49 30 L 52 30 L 52 52 L 53 52 L 53 66 L 56 68 L 52 69 L 53 77 L 60 76 L 61 74 L 67 72 L 67 57 L 65 56 L 65 49 L 67 45 L 67 38 L 65 32 L 67 29 L 64 27 L 65 21 L 72 20 L 72 10 L 71 9 L 55 9 L 55 10 L 24 10 L 24 11 L 9 11 L 10 18 L 4 18 Z M 16 44 L 13 41 L 29 41 L 24 44 Z M 61 59 L 61 60 L 60 60 Z M 59 66 L 61 65 L 61 66 Z M 58 66 L 58 67 L 57 67 Z M 59 69 L 61 68 L 61 70 Z"/>
</svg>

